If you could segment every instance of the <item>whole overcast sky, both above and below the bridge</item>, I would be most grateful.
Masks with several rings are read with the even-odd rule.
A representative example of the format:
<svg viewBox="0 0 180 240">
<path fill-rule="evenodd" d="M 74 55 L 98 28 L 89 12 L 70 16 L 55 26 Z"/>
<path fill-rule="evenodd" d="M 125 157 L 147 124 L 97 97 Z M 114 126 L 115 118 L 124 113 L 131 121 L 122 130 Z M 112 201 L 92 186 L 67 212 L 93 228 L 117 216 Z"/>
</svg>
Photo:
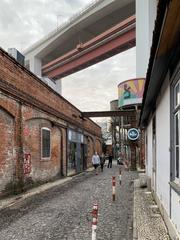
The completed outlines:
<svg viewBox="0 0 180 240">
<path fill-rule="evenodd" d="M 91 0 L 0 0 L 0 46 L 22 51 Z M 117 85 L 135 77 L 135 48 L 62 79 L 62 94 L 82 111 L 110 109 Z"/>
</svg>

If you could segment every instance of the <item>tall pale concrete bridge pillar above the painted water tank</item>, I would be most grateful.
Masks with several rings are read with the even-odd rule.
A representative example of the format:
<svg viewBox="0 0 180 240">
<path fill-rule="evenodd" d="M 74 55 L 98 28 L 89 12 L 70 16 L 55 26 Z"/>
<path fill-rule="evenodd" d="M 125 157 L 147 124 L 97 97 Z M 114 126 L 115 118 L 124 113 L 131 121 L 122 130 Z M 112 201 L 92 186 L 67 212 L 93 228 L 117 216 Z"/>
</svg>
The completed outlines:
<svg viewBox="0 0 180 240">
<path fill-rule="evenodd" d="M 136 0 L 136 77 L 146 77 L 157 0 Z"/>
</svg>

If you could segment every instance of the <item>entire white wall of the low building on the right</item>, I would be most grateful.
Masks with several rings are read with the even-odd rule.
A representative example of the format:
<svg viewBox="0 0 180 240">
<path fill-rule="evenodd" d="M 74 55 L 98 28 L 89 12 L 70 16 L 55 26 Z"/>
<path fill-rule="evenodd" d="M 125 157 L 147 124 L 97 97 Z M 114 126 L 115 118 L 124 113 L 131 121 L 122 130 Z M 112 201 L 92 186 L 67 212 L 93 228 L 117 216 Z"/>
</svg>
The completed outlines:
<svg viewBox="0 0 180 240">
<path fill-rule="evenodd" d="M 155 158 L 153 161 L 153 117 L 156 119 L 156 145 Z M 169 228 L 171 237 L 180 235 L 180 196 L 170 187 L 170 85 L 167 75 L 163 87 L 159 92 L 156 103 L 156 111 L 146 128 L 147 134 L 147 156 L 146 174 L 151 178 L 152 191 L 155 194 L 157 204 L 161 210 L 164 220 Z M 153 168 L 155 167 L 155 175 Z M 154 180 L 155 176 L 155 180 Z M 176 238 L 175 238 L 176 239 Z"/>
</svg>

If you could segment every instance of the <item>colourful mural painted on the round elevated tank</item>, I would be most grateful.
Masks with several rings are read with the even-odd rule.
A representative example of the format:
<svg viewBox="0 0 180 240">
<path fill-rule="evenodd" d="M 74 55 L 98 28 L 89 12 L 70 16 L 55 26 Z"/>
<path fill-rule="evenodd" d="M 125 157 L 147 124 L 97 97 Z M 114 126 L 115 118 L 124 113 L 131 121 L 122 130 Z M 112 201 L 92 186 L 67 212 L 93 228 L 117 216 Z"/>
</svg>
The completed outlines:
<svg viewBox="0 0 180 240">
<path fill-rule="evenodd" d="M 118 107 L 142 103 L 145 79 L 131 79 L 118 85 Z"/>
</svg>

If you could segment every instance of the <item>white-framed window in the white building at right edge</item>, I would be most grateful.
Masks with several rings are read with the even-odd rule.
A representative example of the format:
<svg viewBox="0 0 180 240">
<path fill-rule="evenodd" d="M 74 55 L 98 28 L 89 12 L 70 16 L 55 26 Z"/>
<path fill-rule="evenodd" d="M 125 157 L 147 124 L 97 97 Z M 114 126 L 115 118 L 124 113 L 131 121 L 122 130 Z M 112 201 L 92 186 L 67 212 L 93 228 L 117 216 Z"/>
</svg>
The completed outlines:
<svg viewBox="0 0 180 240">
<path fill-rule="evenodd" d="M 174 176 L 175 181 L 180 183 L 180 128 L 179 128 L 179 121 L 180 121 L 180 80 L 174 87 L 174 105 L 173 105 L 173 125 L 174 125 Z"/>
</svg>

